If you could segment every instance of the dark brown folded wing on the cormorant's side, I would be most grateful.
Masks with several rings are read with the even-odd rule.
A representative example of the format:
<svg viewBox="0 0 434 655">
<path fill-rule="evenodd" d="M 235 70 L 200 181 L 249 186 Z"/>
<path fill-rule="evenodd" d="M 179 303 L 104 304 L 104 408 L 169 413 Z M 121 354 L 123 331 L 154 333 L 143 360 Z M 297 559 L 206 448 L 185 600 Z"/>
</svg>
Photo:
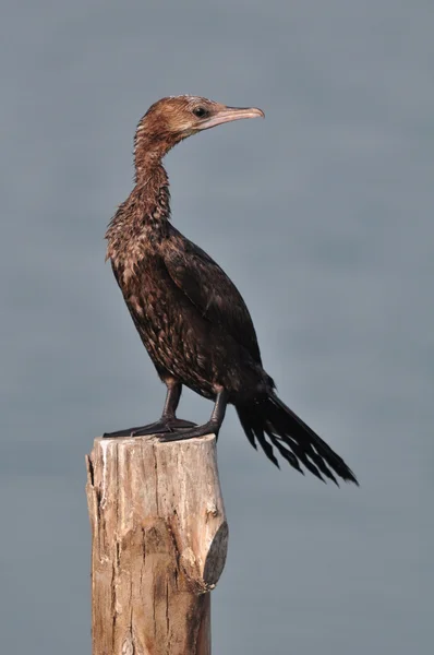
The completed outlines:
<svg viewBox="0 0 434 655">
<path fill-rule="evenodd" d="M 261 364 L 255 329 L 240 291 L 198 246 L 179 233 L 176 239 L 177 247 L 165 248 L 162 252 L 174 284 L 206 320 L 221 326 Z"/>
</svg>

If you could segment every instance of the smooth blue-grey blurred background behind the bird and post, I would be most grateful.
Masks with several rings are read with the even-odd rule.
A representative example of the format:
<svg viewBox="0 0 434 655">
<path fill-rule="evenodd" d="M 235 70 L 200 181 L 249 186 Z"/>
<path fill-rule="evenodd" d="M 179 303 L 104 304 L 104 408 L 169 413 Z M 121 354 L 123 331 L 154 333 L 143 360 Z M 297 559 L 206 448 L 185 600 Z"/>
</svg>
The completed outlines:
<svg viewBox="0 0 434 655">
<path fill-rule="evenodd" d="M 173 221 L 362 485 L 277 472 L 229 412 L 214 652 L 430 651 L 433 28 L 432 0 L 1 2 L 1 652 L 91 651 L 84 454 L 164 397 L 103 236 L 178 93 L 266 112 L 170 154 Z"/>
</svg>

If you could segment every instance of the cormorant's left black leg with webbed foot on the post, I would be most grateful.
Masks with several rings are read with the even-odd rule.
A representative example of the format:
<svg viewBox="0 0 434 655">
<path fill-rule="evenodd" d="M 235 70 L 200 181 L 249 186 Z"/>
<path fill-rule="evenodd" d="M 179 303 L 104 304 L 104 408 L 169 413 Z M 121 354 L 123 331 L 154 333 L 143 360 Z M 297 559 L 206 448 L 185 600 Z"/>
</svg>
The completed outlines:
<svg viewBox="0 0 434 655">
<path fill-rule="evenodd" d="M 128 428 L 126 430 L 118 430 L 117 432 L 106 432 L 104 437 L 107 439 L 116 437 L 146 437 L 147 434 L 161 434 L 165 432 L 173 432 L 174 430 L 194 428 L 196 424 L 190 420 L 182 420 L 176 416 L 179 400 L 181 397 L 182 384 L 172 379 L 165 382 L 167 385 L 167 395 L 161 418 L 159 420 L 147 426 Z"/>
</svg>

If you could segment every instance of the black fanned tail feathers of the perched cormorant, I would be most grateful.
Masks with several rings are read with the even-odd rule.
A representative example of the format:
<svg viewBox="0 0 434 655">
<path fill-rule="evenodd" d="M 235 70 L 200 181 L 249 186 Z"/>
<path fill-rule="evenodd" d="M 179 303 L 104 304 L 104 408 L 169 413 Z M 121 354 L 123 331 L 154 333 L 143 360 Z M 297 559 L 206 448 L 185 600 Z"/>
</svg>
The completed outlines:
<svg viewBox="0 0 434 655">
<path fill-rule="evenodd" d="M 276 466 L 279 463 L 274 445 L 288 464 L 300 473 L 303 473 L 302 464 L 323 481 L 326 477 L 338 485 L 336 475 L 346 483 L 359 484 L 343 460 L 275 394 L 237 405 L 236 408 L 253 448 L 256 449 L 257 439 L 268 460 Z"/>
</svg>

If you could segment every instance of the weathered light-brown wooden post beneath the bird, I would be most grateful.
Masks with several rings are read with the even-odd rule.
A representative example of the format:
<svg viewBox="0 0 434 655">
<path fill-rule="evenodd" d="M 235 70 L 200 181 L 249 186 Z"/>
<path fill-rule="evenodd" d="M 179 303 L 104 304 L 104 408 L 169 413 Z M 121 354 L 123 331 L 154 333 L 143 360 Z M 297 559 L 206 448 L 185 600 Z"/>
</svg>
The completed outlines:
<svg viewBox="0 0 434 655">
<path fill-rule="evenodd" d="M 215 437 L 98 438 L 86 463 L 93 655 L 209 655 L 228 541 Z"/>
</svg>

